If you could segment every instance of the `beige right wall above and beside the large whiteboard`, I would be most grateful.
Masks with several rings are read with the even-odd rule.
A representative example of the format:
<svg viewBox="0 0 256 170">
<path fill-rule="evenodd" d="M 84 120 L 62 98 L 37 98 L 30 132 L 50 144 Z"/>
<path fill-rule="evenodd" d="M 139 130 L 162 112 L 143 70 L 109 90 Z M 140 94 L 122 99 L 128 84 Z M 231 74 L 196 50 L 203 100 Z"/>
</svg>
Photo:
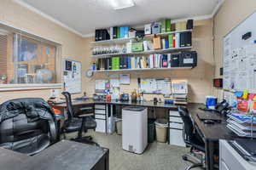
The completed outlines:
<svg viewBox="0 0 256 170">
<path fill-rule="evenodd" d="M 220 77 L 219 68 L 223 67 L 223 37 L 255 11 L 255 0 L 225 0 L 214 16 L 215 77 Z M 215 89 L 213 94 L 218 96 L 219 99 L 222 98 L 222 90 Z"/>
</svg>

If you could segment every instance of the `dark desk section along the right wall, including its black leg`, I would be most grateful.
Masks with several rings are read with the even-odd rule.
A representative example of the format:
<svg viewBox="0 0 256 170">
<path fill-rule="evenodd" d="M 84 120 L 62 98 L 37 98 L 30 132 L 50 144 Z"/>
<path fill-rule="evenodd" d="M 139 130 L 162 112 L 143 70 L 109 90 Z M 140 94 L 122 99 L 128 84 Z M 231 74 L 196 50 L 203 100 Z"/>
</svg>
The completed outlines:
<svg viewBox="0 0 256 170">
<path fill-rule="evenodd" d="M 233 133 L 227 126 L 226 119 L 223 116 L 219 116 L 218 113 L 214 112 L 215 116 L 219 116 L 222 120 L 221 123 L 215 124 L 205 124 L 201 122 L 198 118 L 198 115 L 206 114 L 208 111 L 202 111 L 198 108 L 205 107 L 202 104 L 189 104 L 187 105 L 187 109 L 195 122 L 195 128 L 198 133 L 200 133 L 201 137 L 204 139 L 206 144 L 206 161 L 207 161 L 207 169 L 212 170 L 213 167 L 213 152 L 214 146 L 218 145 L 219 139 L 236 139 L 238 136 L 236 133 Z"/>
</svg>

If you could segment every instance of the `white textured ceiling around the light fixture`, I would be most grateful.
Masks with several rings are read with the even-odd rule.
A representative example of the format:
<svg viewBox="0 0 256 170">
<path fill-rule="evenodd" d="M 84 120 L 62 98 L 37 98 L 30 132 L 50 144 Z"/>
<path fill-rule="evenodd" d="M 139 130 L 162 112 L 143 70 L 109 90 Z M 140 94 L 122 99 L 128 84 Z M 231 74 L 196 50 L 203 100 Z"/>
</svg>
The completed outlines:
<svg viewBox="0 0 256 170">
<path fill-rule="evenodd" d="M 163 18 L 174 20 L 211 15 L 219 0 L 134 0 L 135 7 L 113 10 L 110 0 L 15 0 L 88 35 L 96 28 L 137 25 Z"/>
</svg>

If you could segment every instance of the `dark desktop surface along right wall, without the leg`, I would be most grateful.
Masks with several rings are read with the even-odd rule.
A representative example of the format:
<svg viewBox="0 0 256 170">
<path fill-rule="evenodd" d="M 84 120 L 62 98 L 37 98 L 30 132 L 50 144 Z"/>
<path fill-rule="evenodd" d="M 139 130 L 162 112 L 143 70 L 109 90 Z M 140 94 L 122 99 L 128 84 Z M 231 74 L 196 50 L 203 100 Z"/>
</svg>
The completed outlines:
<svg viewBox="0 0 256 170">
<path fill-rule="evenodd" d="M 201 135 L 203 135 L 204 139 L 210 140 L 218 140 L 218 139 L 236 139 L 238 136 L 236 133 L 233 133 L 228 127 L 226 118 L 224 116 L 220 116 L 217 112 L 212 111 L 202 111 L 199 108 L 204 108 L 203 104 L 189 104 L 187 105 L 187 109 L 192 116 L 196 126 L 201 131 Z M 222 122 L 215 124 L 205 124 L 201 122 L 201 120 L 197 117 L 198 115 L 204 115 L 206 112 L 210 112 L 216 116 L 218 116 Z"/>
</svg>

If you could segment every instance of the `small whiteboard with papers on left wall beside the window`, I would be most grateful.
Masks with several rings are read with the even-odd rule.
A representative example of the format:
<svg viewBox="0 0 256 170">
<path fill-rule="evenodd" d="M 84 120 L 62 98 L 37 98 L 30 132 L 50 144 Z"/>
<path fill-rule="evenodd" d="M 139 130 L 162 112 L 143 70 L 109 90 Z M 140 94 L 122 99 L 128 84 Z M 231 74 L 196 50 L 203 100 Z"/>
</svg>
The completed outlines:
<svg viewBox="0 0 256 170">
<path fill-rule="evenodd" d="M 67 69 L 66 62 L 69 62 L 71 67 Z M 78 61 L 63 59 L 63 81 L 65 91 L 70 94 L 82 93 L 82 64 Z"/>
</svg>

